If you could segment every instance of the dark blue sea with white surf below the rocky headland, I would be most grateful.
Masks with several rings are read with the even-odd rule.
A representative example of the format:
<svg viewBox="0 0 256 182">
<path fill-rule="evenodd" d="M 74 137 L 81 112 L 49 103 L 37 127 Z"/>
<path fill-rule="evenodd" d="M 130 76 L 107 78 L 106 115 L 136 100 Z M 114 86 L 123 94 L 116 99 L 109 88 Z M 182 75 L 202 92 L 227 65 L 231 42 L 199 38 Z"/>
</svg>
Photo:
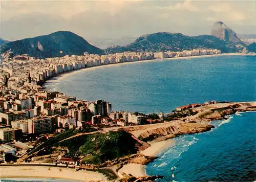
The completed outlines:
<svg viewBox="0 0 256 182">
<path fill-rule="evenodd" d="M 147 165 L 160 181 L 256 180 L 256 112 L 211 122 L 209 132 L 175 138 L 175 146 Z"/>
</svg>

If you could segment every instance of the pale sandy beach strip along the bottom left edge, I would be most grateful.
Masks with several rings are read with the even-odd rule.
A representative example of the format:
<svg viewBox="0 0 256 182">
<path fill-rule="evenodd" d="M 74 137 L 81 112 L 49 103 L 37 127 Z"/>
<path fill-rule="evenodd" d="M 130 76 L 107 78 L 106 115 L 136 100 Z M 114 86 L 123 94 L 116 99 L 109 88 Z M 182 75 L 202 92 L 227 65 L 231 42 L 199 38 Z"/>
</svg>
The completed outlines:
<svg viewBox="0 0 256 182">
<path fill-rule="evenodd" d="M 41 166 L 15 166 L 0 167 L 1 178 L 12 177 L 39 177 L 39 178 L 62 178 L 76 181 L 108 181 L 101 173 L 93 171 L 75 171 L 75 169 L 66 169 L 58 167 L 41 167 Z"/>
</svg>

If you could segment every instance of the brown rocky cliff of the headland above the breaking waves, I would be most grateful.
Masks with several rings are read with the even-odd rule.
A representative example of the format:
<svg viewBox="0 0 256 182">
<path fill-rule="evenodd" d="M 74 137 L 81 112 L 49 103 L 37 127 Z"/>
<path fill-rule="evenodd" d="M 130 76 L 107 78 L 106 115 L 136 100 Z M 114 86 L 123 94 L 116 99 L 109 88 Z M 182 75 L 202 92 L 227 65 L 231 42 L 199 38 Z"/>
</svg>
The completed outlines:
<svg viewBox="0 0 256 182">
<path fill-rule="evenodd" d="M 241 107 L 241 105 L 238 107 Z M 254 109 L 254 107 L 252 109 Z M 177 137 L 178 135 L 182 134 L 209 131 L 214 127 L 209 125 L 210 121 L 225 119 L 224 116 L 232 115 L 236 111 L 238 110 L 234 106 L 211 109 L 183 119 L 182 121 L 179 120 L 176 122 L 169 122 L 161 125 L 160 127 L 154 128 L 141 127 L 140 130 L 134 130 L 130 132 L 144 142 L 159 142 L 169 138 Z"/>
</svg>

